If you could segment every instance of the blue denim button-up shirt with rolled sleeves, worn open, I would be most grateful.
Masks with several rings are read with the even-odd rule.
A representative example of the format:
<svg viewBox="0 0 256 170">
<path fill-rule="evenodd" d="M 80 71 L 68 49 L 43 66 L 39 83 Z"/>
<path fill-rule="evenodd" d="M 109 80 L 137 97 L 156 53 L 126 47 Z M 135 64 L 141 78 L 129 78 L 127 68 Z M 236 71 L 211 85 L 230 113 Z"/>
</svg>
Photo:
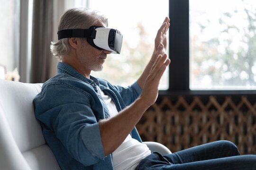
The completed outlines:
<svg viewBox="0 0 256 170">
<path fill-rule="evenodd" d="M 112 156 L 104 155 L 99 120 L 109 118 L 109 110 L 96 85 L 109 95 L 120 111 L 141 93 L 137 83 L 126 88 L 103 79 L 82 76 L 59 62 L 56 76 L 35 97 L 35 115 L 46 143 L 62 170 L 113 170 Z M 142 142 L 134 128 L 131 136 Z"/>
</svg>

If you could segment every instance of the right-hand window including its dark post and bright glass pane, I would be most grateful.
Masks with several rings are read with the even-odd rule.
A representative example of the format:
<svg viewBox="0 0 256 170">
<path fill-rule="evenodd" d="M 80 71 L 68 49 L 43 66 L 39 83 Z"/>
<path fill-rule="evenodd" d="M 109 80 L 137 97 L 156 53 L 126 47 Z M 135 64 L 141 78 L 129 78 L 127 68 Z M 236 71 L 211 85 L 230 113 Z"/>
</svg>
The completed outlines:
<svg viewBox="0 0 256 170">
<path fill-rule="evenodd" d="M 255 93 L 255 7 L 253 0 L 169 0 L 168 93 Z"/>
</svg>

